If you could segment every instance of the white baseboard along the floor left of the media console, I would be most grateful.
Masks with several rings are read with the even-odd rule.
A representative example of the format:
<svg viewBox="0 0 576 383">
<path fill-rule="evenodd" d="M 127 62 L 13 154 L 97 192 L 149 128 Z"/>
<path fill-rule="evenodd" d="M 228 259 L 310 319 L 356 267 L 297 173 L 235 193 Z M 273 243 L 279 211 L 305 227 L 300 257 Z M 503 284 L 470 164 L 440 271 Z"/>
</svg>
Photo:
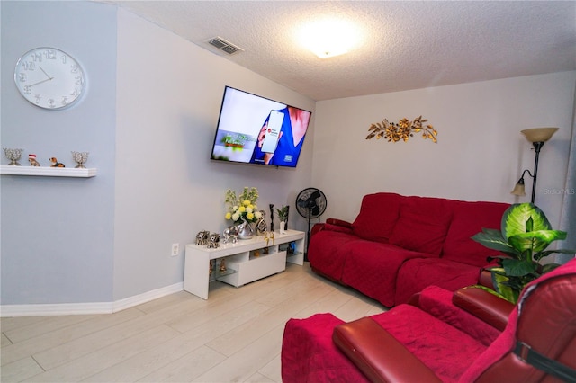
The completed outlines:
<svg viewBox="0 0 576 383">
<path fill-rule="evenodd" d="M 175 283 L 161 289 L 154 289 L 130 298 L 113 302 L 62 303 L 41 305 L 0 305 L 0 317 L 9 316 L 73 316 L 112 314 L 126 308 L 141 305 L 184 289 L 184 282 Z"/>
</svg>

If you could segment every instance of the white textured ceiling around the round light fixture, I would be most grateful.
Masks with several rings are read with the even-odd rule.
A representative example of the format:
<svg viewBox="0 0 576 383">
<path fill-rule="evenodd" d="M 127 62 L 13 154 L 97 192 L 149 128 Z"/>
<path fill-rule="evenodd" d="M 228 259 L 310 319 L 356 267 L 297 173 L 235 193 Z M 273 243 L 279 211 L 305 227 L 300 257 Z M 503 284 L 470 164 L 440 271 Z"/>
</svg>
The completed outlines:
<svg viewBox="0 0 576 383">
<path fill-rule="evenodd" d="M 106 3 L 317 101 L 576 69 L 574 1 Z M 297 28 L 326 15 L 356 22 L 361 45 L 324 59 L 302 49 Z M 244 52 L 217 52 L 216 36 Z"/>
</svg>

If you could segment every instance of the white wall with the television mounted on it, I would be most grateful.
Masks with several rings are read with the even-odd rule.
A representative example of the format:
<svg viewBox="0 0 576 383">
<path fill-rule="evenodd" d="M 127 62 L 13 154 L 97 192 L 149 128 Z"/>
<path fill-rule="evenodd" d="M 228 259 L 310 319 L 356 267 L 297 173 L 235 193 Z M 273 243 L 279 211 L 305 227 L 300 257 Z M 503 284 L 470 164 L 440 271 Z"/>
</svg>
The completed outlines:
<svg viewBox="0 0 576 383">
<path fill-rule="evenodd" d="M 310 186 L 313 123 L 296 169 L 210 161 L 225 85 L 313 111 L 310 99 L 123 10 L 117 85 L 114 299 L 182 282 L 184 244 L 229 224 L 227 189 L 257 187 L 268 212 Z"/>
</svg>

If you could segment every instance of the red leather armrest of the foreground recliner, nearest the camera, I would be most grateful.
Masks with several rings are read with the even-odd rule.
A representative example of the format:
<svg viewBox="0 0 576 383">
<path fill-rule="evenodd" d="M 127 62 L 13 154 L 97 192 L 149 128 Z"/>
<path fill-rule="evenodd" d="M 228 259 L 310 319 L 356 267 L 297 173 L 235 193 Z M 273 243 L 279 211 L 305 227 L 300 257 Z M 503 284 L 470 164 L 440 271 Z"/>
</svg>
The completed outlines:
<svg viewBox="0 0 576 383">
<path fill-rule="evenodd" d="M 441 381 L 372 318 L 338 325 L 332 340 L 372 382 Z"/>
</svg>

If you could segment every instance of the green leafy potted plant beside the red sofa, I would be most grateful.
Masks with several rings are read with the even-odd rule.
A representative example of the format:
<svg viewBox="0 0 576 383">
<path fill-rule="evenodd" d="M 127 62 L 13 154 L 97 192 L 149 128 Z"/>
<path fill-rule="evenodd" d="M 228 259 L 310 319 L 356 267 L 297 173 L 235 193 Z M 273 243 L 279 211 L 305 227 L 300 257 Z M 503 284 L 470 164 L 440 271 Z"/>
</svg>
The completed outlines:
<svg viewBox="0 0 576 383">
<path fill-rule="evenodd" d="M 544 211 L 533 203 L 516 203 L 502 215 L 500 230 L 483 228 L 472 239 L 504 255 L 496 259 L 499 267 L 491 268 L 492 282 L 497 295 L 512 303 L 518 301 L 520 292 L 530 281 L 560 266 L 557 263 L 541 264 L 550 254 L 574 254 L 575 250 L 546 250 L 556 240 L 566 239 L 567 233 L 553 230 Z"/>
</svg>

